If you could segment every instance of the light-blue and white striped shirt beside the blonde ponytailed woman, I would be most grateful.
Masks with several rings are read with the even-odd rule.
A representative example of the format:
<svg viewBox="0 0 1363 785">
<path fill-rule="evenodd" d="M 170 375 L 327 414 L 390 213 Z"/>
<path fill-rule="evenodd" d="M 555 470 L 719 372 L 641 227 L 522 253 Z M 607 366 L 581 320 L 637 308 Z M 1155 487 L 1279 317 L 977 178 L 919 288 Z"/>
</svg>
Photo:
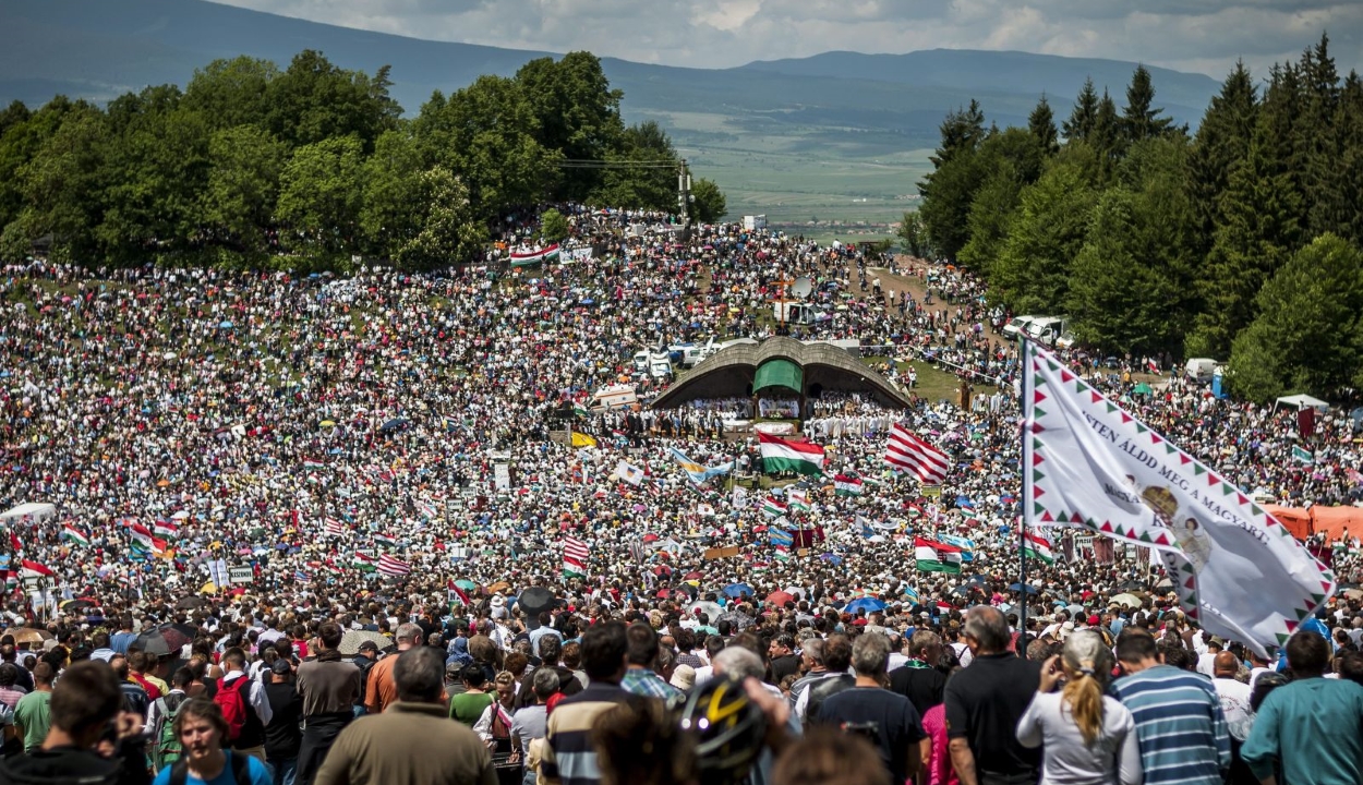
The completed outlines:
<svg viewBox="0 0 1363 785">
<path fill-rule="evenodd" d="M 1145 785 L 1221 785 L 1231 736 L 1210 679 L 1156 665 L 1118 679 L 1112 696 L 1135 720 Z"/>
</svg>

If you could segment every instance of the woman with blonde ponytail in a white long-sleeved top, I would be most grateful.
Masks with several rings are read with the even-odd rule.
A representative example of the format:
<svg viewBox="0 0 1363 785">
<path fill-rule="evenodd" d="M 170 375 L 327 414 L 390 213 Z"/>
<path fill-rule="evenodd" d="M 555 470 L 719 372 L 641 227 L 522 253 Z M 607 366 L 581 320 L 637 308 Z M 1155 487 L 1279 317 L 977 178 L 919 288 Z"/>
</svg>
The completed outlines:
<svg viewBox="0 0 1363 785">
<path fill-rule="evenodd" d="M 1141 751 L 1131 711 L 1104 695 L 1112 653 L 1092 630 L 1069 636 L 1041 665 L 1041 684 L 1017 736 L 1043 747 L 1041 785 L 1141 785 Z M 1065 687 L 1052 692 L 1065 679 Z"/>
</svg>

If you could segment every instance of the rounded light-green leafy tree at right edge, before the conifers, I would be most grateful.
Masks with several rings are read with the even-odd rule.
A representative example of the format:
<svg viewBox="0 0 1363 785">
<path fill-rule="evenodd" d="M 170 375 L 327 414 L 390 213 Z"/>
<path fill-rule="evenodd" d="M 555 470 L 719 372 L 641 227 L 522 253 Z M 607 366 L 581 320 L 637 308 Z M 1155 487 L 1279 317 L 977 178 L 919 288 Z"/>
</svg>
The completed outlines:
<svg viewBox="0 0 1363 785">
<path fill-rule="evenodd" d="M 1298 251 L 1255 297 L 1231 350 L 1231 390 L 1266 403 L 1284 392 L 1363 386 L 1363 253 L 1334 234 Z"/>
</svg>

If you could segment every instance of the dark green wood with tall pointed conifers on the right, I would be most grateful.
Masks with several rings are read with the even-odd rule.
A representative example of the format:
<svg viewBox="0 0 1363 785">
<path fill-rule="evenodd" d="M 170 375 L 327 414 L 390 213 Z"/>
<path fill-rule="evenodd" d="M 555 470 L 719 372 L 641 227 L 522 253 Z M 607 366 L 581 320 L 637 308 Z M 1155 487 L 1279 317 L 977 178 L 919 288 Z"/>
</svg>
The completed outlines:
<svg viewBox="0 0 1363 785">
<path fill-rule="evenodd" d="M 976 104 L 940 127 L 910 252 L 988 282 L 1013 313 L 1066 313 L 1085 346 L 1228 361 L 1236 395 L 1363 387 L 1363 82 L 1329 37 L 1255 78 L 1238 64 L 1195 132 L 1137 68 L 1058 123 Z"/>
</svg>

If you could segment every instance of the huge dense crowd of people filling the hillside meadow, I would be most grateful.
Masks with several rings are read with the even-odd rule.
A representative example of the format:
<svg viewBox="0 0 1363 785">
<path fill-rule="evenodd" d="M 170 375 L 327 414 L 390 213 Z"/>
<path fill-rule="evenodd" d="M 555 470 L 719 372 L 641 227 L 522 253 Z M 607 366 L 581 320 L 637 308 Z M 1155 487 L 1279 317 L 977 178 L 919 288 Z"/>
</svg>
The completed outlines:
<svg viewBox="0 0 1363 785">
<path fill-rule="evenodd" d="M 3 271 L 0 502 L 55 512 L 8 522 L 0 782 L 117 755 L 127 782 L 132 760 L 158 782 L 1126 784 L 1274 766 L 1334 781 L 1298 769 L 1293 751 L 1329 740 L 1303 747 L 1293 724 L 1355 705 L 1363 594 L 1330 598 L 1319 634 L 1287 646 L 1292 698 L 1251 707 L 1270 664 L 1198 631 L 1144 553 L 1056 532 L 1070 557 L 1018 582 L 1017 354 L 977 279 L 735 225 L 683 238 L 657 215 L 566 211 L 592 256 L 542 270 Z M 502 240 L 532 230 L 517 217 Z M 808 407 L 827 474 L 860 477 L 859 493 L 691 482 L 676 451 L 755 470 L 755 440 L 725 425 L 751 402 L 653 412 L 667 382 L 632 354 L 762 338 L 800 275 L 830 318 L 797 337 L 938 364 L 984 403 L 920 398 L 895 369 L 905 412 L 852 395 Z M 1292 413 L 1178 378 L 1139 392 L 1131 361 L 1067 360 L 1247 493 L 1363 491 L 1345 416 L 1319 421 L 1303 465 Z M 568 414 L 620 383 L 639 409 Z M 882 462 L 895 421 L 950 454 L 942 487 Z M 767 495 L 800 503 L 774 518 Z M 773 545 L 776 530 L 806 547 Z M 962 572 L 916 572 L 915 536 L 965 544 Z M 1356 542 L 1341 545 L 1334 571 L 1356 586 Z M 585 552 L 571 571 L 568 548 Z M 1141 675 L 1163 669 L 1202 673 L 1175 680 L 1195 722 L 1149 709 Z M 49 695 L 41 715 L 34 695 Z M 1165 751 L 1171 733 L 1205 740 Z M 114 756 L 59 760 L 99 745 Z M 868 750 L 883 769 L 861 766 Z"/>
</svg>

